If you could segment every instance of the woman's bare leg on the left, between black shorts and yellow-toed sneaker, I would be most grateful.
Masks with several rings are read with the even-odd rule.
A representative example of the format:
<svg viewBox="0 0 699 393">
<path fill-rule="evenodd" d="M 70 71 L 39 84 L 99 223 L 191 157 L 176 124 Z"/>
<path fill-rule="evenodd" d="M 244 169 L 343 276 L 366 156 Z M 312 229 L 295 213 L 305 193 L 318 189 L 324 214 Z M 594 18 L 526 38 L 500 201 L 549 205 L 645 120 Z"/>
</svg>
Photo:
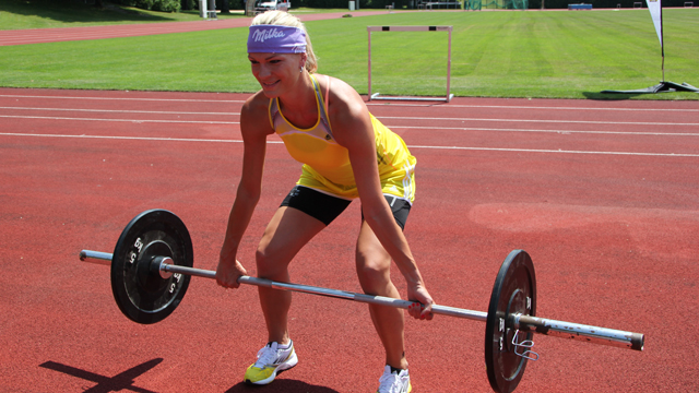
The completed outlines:
<svg viewBox="0 0 699 393">
<path fill-rule="evenodd" d="M 325 224 L 301 211 L 280 207 L 268 224 L 258 247 L 258 276 L 287 283 L 289 262 L 324 227 Z M 265 287 L 258 287 L 258 290 L 269 333 L 268 341 L 288 344 L 287 313 L 292 294 Z"/>
</svg>

